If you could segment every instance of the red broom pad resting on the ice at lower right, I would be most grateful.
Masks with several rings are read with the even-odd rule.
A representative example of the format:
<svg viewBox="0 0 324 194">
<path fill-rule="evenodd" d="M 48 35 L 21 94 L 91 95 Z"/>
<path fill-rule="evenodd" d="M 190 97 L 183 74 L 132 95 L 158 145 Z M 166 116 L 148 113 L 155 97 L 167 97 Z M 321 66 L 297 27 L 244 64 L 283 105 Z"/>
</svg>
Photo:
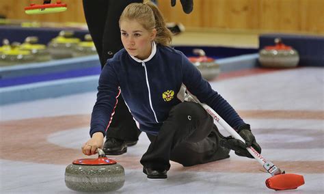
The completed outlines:
<svg viewBox="0 0 324 194">
<path fill-rule="evenodd" d="M 288 190 L 297 189 L 298 186 L 305 184 L 303 176 L 298 174 L 278 174 L 265 181 L 269 189 Z"/>
</svg>

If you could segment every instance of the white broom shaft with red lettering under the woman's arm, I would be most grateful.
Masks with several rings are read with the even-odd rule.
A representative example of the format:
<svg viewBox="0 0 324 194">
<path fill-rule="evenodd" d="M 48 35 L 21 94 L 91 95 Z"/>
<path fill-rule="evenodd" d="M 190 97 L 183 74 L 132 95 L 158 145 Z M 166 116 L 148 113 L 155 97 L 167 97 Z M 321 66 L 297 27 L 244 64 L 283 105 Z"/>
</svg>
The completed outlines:
<svg viewBox="0 0 324 194">
<path fill-rule="evenodd" d="M 198 103 L 200 105 L 202 105 L 202 107 L 207 111 L 207 113 L 209 113 L 214 118 L 214 120 L 216 120 L 221 126 L 223 126 L 228 131 L 228 133 L 230 133 L 230 135 L 232 135 L 232 137 L 234 137 L 235 139 L 239 139 L 245 143 L 245 140 L 241 137 L 241 135 L 239 135 L 237 133 L 237 131 L 234 130 L 234 128 L 232 128 L 224 119 L 222 119 L 211 107 L 209 107 L 208 105 L 203 104 L 199 101 L 198 101 Z M 252 154 L 252 156 L 254 156 L 254 158 L 256 158 L 256 160 L 261 165 L 264 165 L 265 163 L 267 163 L 265 158 L 263 158 L 258 152 L 256 152 L 256 150 L 254 150 L 254 148 L 252 148 L 252 146 L 249 148 L 246 148 L 246 149 L 250 154 Z M 254 151 L 252 151 L 252 149 Z"/>
</svg>

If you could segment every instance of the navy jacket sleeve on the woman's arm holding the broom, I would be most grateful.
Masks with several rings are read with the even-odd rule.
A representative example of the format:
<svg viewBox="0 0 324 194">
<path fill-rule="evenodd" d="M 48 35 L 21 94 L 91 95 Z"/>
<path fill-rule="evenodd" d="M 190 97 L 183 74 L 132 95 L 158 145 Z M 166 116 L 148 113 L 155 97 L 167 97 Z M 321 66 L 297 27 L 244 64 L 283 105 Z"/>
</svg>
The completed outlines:
<svg viewBox="0 0 324 194">
<path fill-rule="evenodd" d="M 206 103 L 206 105 L 216 111 L 235 130 L 242 124 L 245 124 L 232 106 L 211 88 L 208 81 L 202 78 L 200 71 L 195 68 L 185 55 L 183 55 L 182 70 L 183 84 L 185 84 L 188 91 L 195 95 L 200 102 Z"/>
</svg>

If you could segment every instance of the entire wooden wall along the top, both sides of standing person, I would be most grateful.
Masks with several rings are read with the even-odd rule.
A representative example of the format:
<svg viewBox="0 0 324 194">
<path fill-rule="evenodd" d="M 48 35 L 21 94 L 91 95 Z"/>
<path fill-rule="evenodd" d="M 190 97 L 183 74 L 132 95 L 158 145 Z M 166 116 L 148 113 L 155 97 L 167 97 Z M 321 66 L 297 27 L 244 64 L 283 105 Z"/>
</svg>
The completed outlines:
<svg viewBox="0 0 324 194">
<path fill-rule="evenodd" d="M 193 1 L 194 10 L 189 15 L 181 10 L 179 0 L 175 8 L 170 6 L 170 0 L 159 0 L 159 8 L 167 21 L 181 22 L 187 29 L 324 33 L 324 0 Z M 68 3 L 67 12 L 28 16 L 23 9 L 30 0 L 0 0 L 0 14 L 14 19 L 85 22 L 81 0 L 64 2 Z"/>
</svg>

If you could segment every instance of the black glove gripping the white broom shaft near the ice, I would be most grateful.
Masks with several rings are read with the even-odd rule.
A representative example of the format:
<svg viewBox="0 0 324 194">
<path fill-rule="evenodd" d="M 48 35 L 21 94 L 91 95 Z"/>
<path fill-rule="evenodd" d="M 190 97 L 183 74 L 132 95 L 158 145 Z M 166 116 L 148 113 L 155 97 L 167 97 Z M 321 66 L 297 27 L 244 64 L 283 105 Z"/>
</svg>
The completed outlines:
<svg viewBox="0 0 324 194">
<path fill-rule="evenodd" d="M 258 143 L 256 143 L 256 138 L 251 132 L 249 128 L 249 124 L 243 124 L 239 126 L 238 129 L 239 135 L 245 140 L 245 143 L 239 139 L 234 139 L 234 137 L 224 137 L 221 139 L 220 146 L 224 148 L 228 148 L 230 150 L 234 150 L 235 154 L 238 156 L 245 156 L 247 158 L 254 158 L 249 152 L 246 150 L 247 147 L 252 146 L 254 150 L 256 150 L 259 154 L 261 153 L 261 147 Z"/>
</svg>

